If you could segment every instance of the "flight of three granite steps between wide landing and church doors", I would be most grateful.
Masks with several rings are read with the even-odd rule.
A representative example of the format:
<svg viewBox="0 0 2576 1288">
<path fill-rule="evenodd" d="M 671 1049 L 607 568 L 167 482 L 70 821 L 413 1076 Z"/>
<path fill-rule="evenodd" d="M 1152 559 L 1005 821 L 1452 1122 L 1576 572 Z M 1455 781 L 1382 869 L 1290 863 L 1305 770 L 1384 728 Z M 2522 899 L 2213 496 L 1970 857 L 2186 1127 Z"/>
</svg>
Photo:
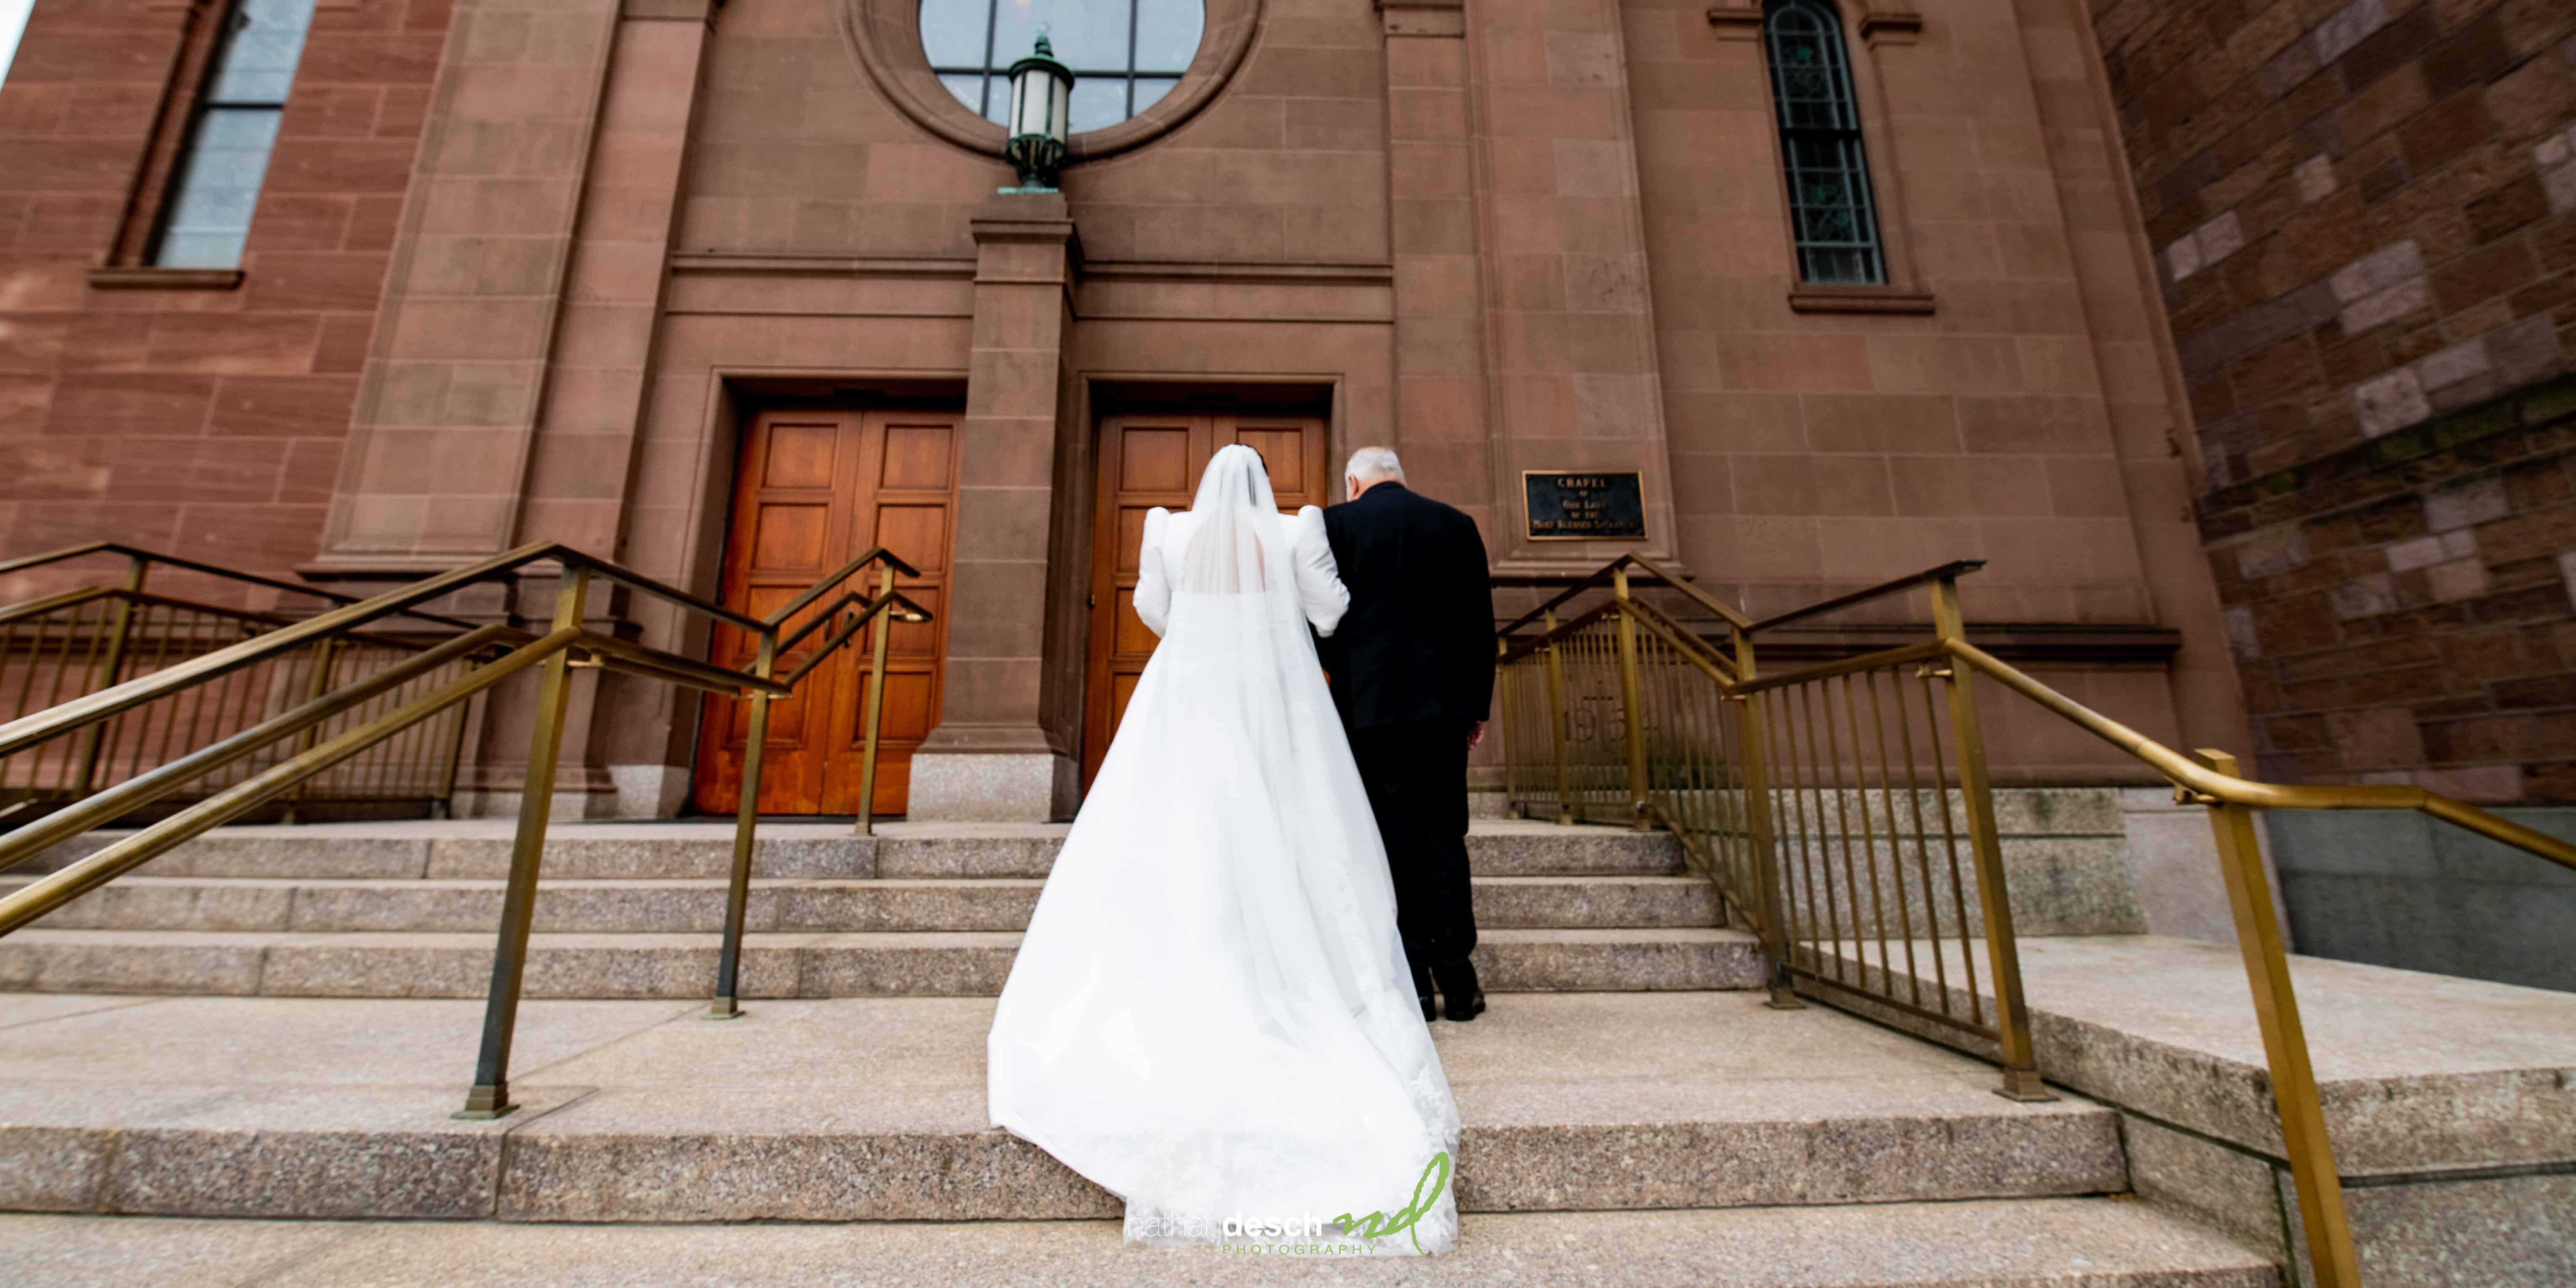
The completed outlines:
<svg viewBox="0 0 2576 1288">
<path fill-rule="evenodd" d="M 760 829 L 744 997 L 1002 992 L 1064 827 L 881 832 Z M 1672 837 L 1479 819 L 1471 863 L 1492 992 L 1759 984 Z M 0 940 L 0 989 L 482 997 L 507 868 L 507 822 L 222 829 Z M 559 824 L 528 997 L 706 997 L 729 868 L 732 824 Z"/>
</svg>

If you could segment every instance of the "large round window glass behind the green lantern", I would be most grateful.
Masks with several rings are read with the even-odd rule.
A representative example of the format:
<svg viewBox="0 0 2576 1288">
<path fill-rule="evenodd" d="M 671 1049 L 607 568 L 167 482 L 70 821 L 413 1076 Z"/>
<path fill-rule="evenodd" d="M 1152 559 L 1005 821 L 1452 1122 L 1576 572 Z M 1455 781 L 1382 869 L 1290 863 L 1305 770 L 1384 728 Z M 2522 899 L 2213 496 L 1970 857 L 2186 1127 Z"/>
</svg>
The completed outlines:
<svg viewBox="0 0 2576 1288">
<path fill-rule="evenodd" d="M 1074 70 L 1077 134 L 1115 126 L 1172 93 L 1203 28 L 1203 0 L 922 0 L 930 70 L 987 121 L 1010 111 L 1010 64 L 1043 31 Z"/>
</svg>

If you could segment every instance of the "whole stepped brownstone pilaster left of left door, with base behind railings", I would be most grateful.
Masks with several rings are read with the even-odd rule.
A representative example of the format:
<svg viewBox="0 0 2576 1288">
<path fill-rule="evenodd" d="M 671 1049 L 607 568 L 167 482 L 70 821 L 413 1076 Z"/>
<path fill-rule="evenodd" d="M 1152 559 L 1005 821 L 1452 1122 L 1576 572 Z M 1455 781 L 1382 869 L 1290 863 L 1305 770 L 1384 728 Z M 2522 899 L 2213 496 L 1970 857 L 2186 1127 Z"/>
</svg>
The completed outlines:
<svg viewBox="0 0 2576 1288">
<path fill-rule="evenodd" d="M 546 538 L 675 572 L 667 544 L 631 559 L 621 518 L 711 21 L 711 0 L 459 5 L 307 574 L 379 590 Z M 536 572 L 515 605 L 487 587 L 453 608 L 544 618 Z M 592 582 L 592 629 L 636 618 L 685 647 L 670 608 Z M 495 690 L 461 811 L 518 809 L 526 701 Z M 556 814 L 672 811 L 677 708 L 667 685 L 585 672 Z"/>
</svg>

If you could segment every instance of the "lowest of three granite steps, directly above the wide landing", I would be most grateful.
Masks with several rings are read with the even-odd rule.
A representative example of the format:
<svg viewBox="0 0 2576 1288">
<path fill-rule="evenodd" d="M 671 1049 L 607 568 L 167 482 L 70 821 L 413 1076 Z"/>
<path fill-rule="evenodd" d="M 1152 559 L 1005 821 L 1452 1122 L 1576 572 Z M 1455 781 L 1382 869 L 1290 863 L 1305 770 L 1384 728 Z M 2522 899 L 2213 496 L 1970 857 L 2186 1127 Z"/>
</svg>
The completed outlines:
<svg viewBox="0 0 2576 1288">
<path fill-rule="evenodd" d="M 706 997 L 716 935 L 531 935 L 528 997 Z M 1007 930 L 760 933 L 742 997 L 992 997 Z M 1718 927 L 1486 930 L 1489 992 L 1754 989 L 1762 953 Z M 21 930 L 0 940 L 0 992 L 229 997 L 482 997 L 492 933 Z"/>
</svg>

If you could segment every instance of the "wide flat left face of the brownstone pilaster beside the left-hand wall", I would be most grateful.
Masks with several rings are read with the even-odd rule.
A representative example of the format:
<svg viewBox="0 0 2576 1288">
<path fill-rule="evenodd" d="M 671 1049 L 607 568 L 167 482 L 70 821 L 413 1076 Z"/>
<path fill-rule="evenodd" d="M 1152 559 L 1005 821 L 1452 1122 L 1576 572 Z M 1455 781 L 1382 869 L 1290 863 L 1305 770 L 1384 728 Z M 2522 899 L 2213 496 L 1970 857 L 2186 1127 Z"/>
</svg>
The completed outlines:
<svg viewBox="0 0 2576 1288">
<path fill-rule="evenodd" d="M 456 8 L 317 572 L 518 536 L 616 31 L 616 0 Z"/>
</svg>

